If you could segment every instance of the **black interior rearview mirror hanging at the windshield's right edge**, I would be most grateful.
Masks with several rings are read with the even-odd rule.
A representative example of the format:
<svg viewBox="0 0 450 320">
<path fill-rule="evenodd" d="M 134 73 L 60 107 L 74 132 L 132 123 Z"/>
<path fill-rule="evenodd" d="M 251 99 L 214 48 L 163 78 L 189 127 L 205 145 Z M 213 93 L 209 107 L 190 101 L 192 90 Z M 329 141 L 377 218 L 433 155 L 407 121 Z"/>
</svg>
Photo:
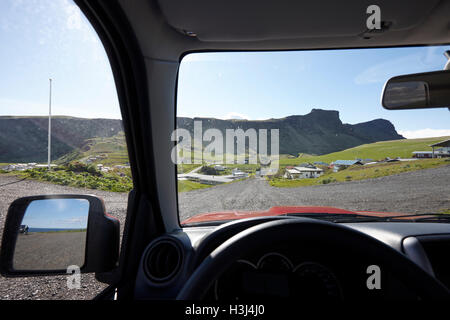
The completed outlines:
<svg viewBox="0 0 450 320">
<path fill-rule="evenodd" d="M 447 108 L 450 106 L 450 71 L 435 71 L 389 79 L 381 104 L 388 110 Z"/>
</svg>

